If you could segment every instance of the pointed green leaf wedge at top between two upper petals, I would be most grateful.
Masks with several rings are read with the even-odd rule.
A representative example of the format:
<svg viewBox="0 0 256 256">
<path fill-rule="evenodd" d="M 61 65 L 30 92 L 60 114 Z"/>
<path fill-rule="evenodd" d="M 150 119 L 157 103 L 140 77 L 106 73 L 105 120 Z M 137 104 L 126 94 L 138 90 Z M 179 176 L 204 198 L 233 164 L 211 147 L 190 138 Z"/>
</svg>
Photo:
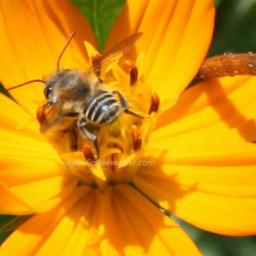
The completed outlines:
<svg viewBox="0 0 256 256">
<path fill-rule="evenodd" d="M 124 7 L 125 0 L 72 0 L 72 3 L 90 22 L 102 51 L 116 17 Z"/>
</svg>

